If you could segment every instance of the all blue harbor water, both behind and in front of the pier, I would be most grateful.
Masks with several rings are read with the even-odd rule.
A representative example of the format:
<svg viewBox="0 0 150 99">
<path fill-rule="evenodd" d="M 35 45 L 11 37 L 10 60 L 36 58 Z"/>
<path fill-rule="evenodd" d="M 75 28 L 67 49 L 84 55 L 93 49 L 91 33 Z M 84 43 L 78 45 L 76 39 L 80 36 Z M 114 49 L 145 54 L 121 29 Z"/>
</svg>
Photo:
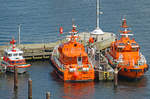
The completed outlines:
<svg viewBox="0 0 150 99">
<path fill-rule="evenodd" d="M 121 18 L 127 18 L 135 40 L 150 65 L 150 1 L 100 0 L 100 27 L 105 32 L 119 33 Z M 21 43 L 48 43 L 60 38 L 58 27 L 66 33 L 72 20 L 79 32 L 96 26 L 96 0 L 1 0 L 0 45 L 17 38 L 21 24 Z M 65 33 L 63 35 L 65 35 Z M 18 92 L 13 90 L 13 74 L 0 74 L 0 99 L 27 99 L 28 79 L 32 79 L 33 99 L 149 99 L 150 72 L 139 81 L 64 83 L 53 72 L 50 62 L 34 61 L 28 72 L 18 75 Z"/>
</svg>

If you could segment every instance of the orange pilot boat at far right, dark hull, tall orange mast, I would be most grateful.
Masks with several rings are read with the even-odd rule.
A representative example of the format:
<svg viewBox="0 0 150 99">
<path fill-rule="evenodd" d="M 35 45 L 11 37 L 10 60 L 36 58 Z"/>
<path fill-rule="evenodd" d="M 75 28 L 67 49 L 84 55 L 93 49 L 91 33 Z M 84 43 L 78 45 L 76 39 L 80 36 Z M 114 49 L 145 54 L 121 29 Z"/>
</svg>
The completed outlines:
<svg viewBox="0 0 150 99">
<path fill-rule="evenodd" d="M 120 39 L 112 42 L 110 49 L 106 51 L 108 62 L 119 69 L 118 75 L 130 79 L 141 78 L 148 70 L 145 57 L 140 52 L 140 46 L 134 39 L 130 39 L 131 32 L 128 29 L 126 19 L 122 20 L 123 29 L 120 31 Z"/>
</svg>

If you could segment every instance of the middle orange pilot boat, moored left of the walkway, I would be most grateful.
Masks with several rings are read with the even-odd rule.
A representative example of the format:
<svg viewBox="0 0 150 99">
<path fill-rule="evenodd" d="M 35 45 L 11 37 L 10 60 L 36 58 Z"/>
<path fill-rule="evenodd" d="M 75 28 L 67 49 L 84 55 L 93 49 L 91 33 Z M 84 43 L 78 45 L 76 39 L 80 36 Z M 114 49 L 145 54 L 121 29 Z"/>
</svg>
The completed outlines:
<svg viewBox="0 0 150 99">
<path fill-rule="evenodd" d="M 77 41 L 77 32 L 76 26 L 73 25 L 69 41 L 54 48 L 51 61 L 55 72 L 64 81 L 93 81 L 94 68 L 84 45 Z"/>
</svg>

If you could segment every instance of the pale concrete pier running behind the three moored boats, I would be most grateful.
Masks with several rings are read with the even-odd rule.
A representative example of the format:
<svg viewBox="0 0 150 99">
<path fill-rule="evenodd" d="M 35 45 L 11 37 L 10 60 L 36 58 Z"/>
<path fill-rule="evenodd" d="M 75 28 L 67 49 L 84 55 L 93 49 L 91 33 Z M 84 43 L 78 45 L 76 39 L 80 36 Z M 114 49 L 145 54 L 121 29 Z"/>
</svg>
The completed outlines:
<svg viewBox="0 0 150 99">
<path fill-rule="evenodd" d="M 84 43 L 84 45 L 86 45 L 89 41 L 89 37 L 92 36 L 96 38 L 96 42 L 94 44 L 98 50 L 103 50 L 109 47 L 111 42 L 115 40 L 115 35 L 108 32 L 104 32 L 104 34 L 101 35 L 91 35 L 89 32 L 82 32 L 79 33 L 79 36 L 81 43 Z M 20 48 L 24 52 L 23 56 L 25 59 L 48 59 L 51 56 L 53 48 L 64 41 L 67 41 L 67 38 L 51 43 L 19 44 L 16 45 L 16 47 Z M 0 47 L 0 57 L 4 55 L 4 49 L 8 47 L 9 46 Z"/>
</svg>

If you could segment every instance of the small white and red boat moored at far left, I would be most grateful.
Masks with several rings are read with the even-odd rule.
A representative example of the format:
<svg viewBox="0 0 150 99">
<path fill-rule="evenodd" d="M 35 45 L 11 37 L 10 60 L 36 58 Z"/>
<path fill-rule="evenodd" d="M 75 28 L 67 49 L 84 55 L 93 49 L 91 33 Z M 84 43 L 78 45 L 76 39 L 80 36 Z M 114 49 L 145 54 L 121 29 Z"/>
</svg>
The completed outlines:
<svg viewBox="0 0 150 99">
<path fill-rule="evenodd" d="M 14 72 L 14 66 L 17 68 L 18 73 L 26 72 L 26 68 L 30 67 L 31 64 L 27 64 L 23 58 L 23 51 L 15 46 L 16 41 L 12 39 L 10 41 L 10 47 L 4 50 L 4 56 L 1 61 L 1 65 L 6 67 L 6 71 Z"/>
</svg>

